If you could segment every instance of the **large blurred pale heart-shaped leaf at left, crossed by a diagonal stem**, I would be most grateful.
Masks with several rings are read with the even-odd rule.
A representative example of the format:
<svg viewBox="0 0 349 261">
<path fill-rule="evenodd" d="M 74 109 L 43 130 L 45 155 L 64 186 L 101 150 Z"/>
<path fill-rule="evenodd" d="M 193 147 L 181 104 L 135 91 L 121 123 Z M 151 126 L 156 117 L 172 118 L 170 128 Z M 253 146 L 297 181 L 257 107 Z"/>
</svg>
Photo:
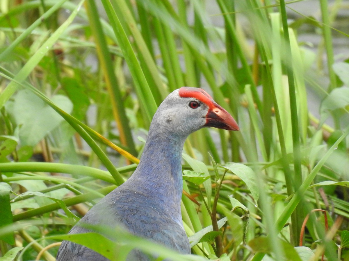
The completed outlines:
<svg viewBox="0 0 349 261">
<path fill-rule="evenodd" d="M 66 96 L 55 95 L 52 101 L 67 113 L 72 111 L 72 102 Z M 29 90 L 20 90 L 10 103 L 7 108 L 16 125 L 21 126 L 22 145 L 36 145 L 63 121 L 57 112 Z"/>
</svg>

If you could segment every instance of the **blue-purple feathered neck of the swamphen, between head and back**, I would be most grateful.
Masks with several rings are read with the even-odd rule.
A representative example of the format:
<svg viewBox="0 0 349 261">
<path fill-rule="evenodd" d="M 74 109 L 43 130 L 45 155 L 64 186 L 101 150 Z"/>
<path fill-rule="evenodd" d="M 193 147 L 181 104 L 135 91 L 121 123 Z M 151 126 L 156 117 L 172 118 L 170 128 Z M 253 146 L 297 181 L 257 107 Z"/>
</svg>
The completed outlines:
<svg viewBox="0 0 349 261">
<path fill-rule="evenodd" d="M 134 189 L 149 196 L 158 206 L 169 207 L 166 211 L 178 220 L 181 220 L 181 153 L 185 139 L 150 129 L 140 163 L 128 180 Z"/>
</svg>

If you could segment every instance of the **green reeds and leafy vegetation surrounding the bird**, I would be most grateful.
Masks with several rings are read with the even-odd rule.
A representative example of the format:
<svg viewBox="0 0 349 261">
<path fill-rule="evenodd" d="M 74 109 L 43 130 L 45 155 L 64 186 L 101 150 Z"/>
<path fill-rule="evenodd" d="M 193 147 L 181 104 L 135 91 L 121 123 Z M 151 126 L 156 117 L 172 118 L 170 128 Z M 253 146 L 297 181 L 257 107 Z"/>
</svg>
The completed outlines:
<svg viewBox="0 0 349 261">
<path fill-rule="evenodd" d="M 181 86 L 207 90 L 240 131 L 187 140 L 195 255 L 156 247 L 159 259 L 349 260 L 347 1 L 1 0 L 0 11 L 0 260 L 54 260 L 132 174 L 157 106 Z M 112 260 L 155 249 L 96 238 L 70 240 Z"/>
</svg>

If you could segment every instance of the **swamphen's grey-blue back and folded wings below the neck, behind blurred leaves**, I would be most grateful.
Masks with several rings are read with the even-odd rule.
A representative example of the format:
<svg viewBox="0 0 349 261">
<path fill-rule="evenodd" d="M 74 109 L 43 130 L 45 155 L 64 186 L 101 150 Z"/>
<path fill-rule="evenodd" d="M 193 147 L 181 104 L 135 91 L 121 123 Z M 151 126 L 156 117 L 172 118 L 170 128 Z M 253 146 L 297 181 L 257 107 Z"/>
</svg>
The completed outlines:
<svg viewBox="0 0 349 261">
<path fill-rule="evenodd" d="M 181 220 L 175 220 L 166 209 L 154 202 L 151 195 L 143 195 L 138 191 L 120 186 L 92 207 L 69 233 L 90 232 L 91 230 L 79 226 L 82 223 L 111 228 L 121 225 L 134 235 L 148 238 L 179 253 L 189 254 L 189 242 L 181 222 Z M 87 247 L 63 241 L 57 261 L 68 260 L 104 261 L 107 259 Z M 127 260 L 149 259 L 146 255 L 133 251 Z"/>
</svg>

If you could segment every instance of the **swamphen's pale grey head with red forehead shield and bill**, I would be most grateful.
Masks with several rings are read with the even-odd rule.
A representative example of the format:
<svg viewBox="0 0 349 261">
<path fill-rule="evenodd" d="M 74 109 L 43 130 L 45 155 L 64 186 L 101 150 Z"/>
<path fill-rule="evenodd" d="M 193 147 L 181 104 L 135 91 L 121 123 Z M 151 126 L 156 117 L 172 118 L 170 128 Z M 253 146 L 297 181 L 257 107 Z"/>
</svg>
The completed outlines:
<svg viewBox="0 0 349 261">
<path fill-rule="evenodd" d="M 164 126 L 166 131 L 179 136 L 187 136 L 203 127 L 239 130 L 229 112 L 205 90 L 194 87 L 181 87 L 169 94 L 153 121 L 157 128 Z"/>
</svg>

